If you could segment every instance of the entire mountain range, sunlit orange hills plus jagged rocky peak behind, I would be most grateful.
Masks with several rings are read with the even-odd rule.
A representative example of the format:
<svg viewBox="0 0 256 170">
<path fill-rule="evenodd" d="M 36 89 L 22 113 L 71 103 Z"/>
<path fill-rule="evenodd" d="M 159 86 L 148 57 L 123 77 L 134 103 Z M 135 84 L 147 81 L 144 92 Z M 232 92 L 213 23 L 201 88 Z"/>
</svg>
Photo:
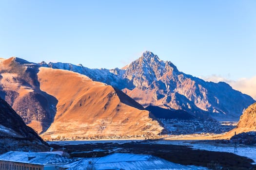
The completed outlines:
<svg viewBox="0 0 256 170">
<path fill-rule="evenodd" d="M 44 138 L 157 135 L 159 119 L 238 120 L 255 102 L 150 51 L 121 69 L 0 59 L 0 97 Z"/>
</svg>

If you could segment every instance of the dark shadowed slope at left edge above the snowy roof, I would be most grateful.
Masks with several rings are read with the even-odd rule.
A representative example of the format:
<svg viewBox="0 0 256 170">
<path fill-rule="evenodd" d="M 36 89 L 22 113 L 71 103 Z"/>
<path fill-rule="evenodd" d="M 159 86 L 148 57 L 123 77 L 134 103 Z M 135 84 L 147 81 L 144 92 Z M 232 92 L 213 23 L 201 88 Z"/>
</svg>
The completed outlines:
<svg viewBox="0 0 256 170">
<path fill-rule="evenodd" d="M 0 99 L 0 153 L 48 151 L 48 145 L 4 100 Z"/>
</svg>

